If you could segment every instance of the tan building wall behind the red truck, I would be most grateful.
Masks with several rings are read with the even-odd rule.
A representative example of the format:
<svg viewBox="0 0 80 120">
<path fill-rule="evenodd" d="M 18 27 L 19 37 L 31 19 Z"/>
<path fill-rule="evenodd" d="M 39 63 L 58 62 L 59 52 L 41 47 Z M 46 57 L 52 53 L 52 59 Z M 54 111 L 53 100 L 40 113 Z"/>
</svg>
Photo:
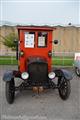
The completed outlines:
<svg viewBox="0 0 80 120">
<path fill-rule="evenodd" d="M 80 27 L 79 26 L 54 26 L 56 30 L 53 31 L 53 40 L 59 40 L 57 45 L 53 44 L 53 51 L 58 52 L 80 52 Z M 10 33 L 17 33 L 15 26 L 1 26 L 0 27 L 0 55 L 14 54 L 8 47 L 3 45 L 3 37 Z"/>
</svg>

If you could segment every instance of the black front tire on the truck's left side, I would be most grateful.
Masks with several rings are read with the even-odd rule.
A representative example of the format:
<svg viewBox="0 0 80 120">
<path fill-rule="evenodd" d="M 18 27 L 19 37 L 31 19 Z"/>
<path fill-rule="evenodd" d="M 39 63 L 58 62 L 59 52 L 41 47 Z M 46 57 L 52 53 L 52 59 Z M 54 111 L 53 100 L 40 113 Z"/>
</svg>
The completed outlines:
<svg viewBox="0 0 80 120">
<path fill-rule="evenodd" d="M 9 104 L 12 104 L 14 102 L 15 97 L 15 82 L 14 78 L 11 79 L 11 81 L 6 82 L 6 100 Z"/>
</svg>

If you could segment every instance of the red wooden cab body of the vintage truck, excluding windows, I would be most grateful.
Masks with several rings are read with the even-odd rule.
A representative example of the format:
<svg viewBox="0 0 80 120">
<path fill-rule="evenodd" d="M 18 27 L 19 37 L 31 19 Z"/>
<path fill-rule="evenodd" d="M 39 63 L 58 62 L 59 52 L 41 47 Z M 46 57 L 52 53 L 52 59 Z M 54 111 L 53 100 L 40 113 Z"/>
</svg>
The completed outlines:
<svg viewBox="0 0 80 120">
<path fill-rule="evenodd" d="M 52 51 L 52 27 L 30 27 L 30 26 L 19 26 L 18 35 L 19 35 L 19 51 L 23 51 L 24 55 L 19 57 L 19 70 L 20 72 L 24 72 L 27 70 L 27 59 L 29 57 L 43 57 L 48 62 L 48 71 L 51 71 L 52 57 L 49 57 L 49 51 Z M 25 48 L 25 32 L 35 32 L 34 40 L 35 46 L 34 48 Z M 39 32 L 47 32 L 47 46 L 46 47 L 38 47 L 38 33 Z"/>
</svg>

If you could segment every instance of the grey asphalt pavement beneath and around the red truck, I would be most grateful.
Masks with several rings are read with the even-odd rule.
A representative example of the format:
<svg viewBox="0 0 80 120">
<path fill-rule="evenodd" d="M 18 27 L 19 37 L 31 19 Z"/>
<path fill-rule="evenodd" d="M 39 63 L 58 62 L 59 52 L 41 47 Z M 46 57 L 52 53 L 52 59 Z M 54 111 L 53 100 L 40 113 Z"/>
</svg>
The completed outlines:
<svg viewBox="0 0 80 120">
<path fill-rule="evenodd" d="M 71 80 L 71 94 L 63 101 L 58 90 L 48 89 L 37 94 L 31 90 L 16 92 L 12 105 L 5 99 L 3 74 L 17 66 L 0 65 L 0 113 L 1 120 L 80 120 L 80 78 L 73 68 L 66 68 L 74 74 Z M 16 84 L 21 80 L 16 80 Z"/>
</svg>

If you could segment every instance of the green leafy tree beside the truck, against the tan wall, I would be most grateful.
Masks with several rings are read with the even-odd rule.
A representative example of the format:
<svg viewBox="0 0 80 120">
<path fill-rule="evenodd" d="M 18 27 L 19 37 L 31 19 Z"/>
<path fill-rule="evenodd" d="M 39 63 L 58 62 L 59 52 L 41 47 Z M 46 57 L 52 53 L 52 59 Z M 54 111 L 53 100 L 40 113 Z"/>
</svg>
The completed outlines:
<svg viewBox="0 0 80 120">
<path fill-rule="evenodd" d="M 3 44 L 11 48 L 12 50 L 15 50 L 16 49 L 16 44 L 14 42 L 15 39 L 18 40 L 18 36 L 15 35 L 15 33 L 10 33 L 9 35 L 4 37 Z"/>
</svg>

